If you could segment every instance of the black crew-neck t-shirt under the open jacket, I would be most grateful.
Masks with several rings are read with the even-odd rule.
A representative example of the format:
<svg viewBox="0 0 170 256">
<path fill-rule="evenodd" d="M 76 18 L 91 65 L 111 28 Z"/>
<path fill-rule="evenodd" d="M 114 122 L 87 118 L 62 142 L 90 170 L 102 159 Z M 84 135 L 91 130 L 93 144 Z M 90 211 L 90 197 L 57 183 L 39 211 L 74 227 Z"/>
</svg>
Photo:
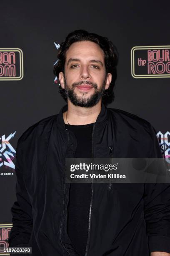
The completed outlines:
<svg viewBox="0 0 170 256">
<path fill-rule="evenodd" d="M 65 127 L 75 134 L 77 148 L 75 158 L 92 157 L 92 128 L 87 125 L 67 125 Z M 67 232 L 76 251 L 85 255 L 88 235 L 88 221 L 91 200 L 91 184 L 70 184 Z"/>
</svg>

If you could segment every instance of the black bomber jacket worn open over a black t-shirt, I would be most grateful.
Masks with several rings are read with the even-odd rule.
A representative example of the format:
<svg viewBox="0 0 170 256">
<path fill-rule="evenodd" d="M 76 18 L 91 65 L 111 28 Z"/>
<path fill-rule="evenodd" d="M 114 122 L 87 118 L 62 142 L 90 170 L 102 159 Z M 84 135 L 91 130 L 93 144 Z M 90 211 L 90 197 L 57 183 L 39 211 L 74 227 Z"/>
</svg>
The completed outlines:
<svg viewBox="0 0 170 256">
<path fill-rule="evenodd" d="M 66 110 L 67 105 L 32 125 L 17 144 L 9 246 L 32 247 L 33 256 L 79 255 L 67 235 L 65 158 L 74 158 L 76 139 L 65 128 Z M 95 158 L 162 157 L 150 123 L 103 104 L 93 126 L 92 152 Z M 170 252 L 170 184 L 94 183 L 90 209 L 85 256 Z"/>
</svg>

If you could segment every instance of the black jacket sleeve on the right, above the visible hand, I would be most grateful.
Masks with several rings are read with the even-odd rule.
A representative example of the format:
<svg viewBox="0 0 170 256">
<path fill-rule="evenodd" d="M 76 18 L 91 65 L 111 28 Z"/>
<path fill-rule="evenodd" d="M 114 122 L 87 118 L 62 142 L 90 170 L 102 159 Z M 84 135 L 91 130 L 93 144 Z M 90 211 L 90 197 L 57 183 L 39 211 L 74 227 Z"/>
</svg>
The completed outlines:
<svg viewBox="0 0 170 256">
<path fill-rule="evenodd" d="M 162 158 L 158 139 L 151 129 L 150 158 Z M 170 253 L 170 184 L 145 184 L 144 214 L 150 252 Z"/>
</svg>

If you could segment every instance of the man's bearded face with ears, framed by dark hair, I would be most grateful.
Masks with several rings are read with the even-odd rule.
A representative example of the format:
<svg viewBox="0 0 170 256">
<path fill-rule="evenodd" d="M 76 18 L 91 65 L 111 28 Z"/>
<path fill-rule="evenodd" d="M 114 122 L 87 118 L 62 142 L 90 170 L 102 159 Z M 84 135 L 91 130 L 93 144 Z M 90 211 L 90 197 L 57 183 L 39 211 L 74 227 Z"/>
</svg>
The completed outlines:
<svg viewBox="0 0 170 256">
<path fill-rule="evenodd" d="M 74 105 L 96 105 L 111 82 L 100 46 L 91 41 L 73 43 L 66 52 L 65 74 L 60 72 L 59 79 L 68 100 Z"/>
</svg>

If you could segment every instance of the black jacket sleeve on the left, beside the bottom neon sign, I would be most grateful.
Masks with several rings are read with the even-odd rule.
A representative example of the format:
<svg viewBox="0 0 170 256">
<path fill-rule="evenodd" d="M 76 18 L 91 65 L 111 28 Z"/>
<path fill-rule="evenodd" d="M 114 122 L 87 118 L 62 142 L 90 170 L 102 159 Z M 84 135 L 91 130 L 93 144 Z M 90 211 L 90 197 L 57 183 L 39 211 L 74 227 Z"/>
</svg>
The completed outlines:
<svg viewBox="0 0 170 256">
<path fill-rule="evenodd" d="M 23 150 L 20 139 L 16 149 L 15 172 L 17 177 L 17 201 L 14 202 L 11 208 L 13 228 L 10 231 L 8 243 L 10 247 L 26 247 L 30 241 L 33 223 L 32 207 L 23 179 Z"/>
</svg>

